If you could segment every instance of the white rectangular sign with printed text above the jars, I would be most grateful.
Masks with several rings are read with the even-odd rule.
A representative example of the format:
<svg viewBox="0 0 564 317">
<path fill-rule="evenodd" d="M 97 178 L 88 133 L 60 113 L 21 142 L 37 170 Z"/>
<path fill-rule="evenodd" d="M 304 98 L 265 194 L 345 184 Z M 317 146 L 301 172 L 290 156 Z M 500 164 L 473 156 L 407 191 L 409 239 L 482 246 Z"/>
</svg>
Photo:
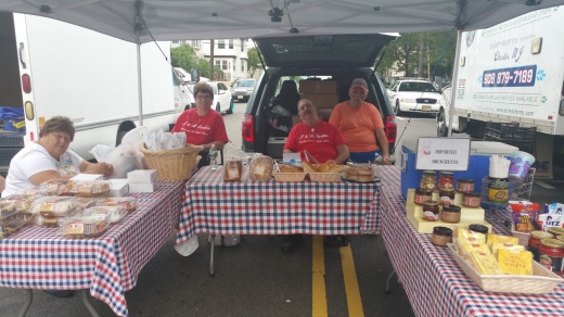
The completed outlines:
<svg viewBox="0 0 564 317">
<path fill-rule="evenodd" d="M 466 170 L 470 138 L 419 138 L 415 169 Z"/>
</svg>

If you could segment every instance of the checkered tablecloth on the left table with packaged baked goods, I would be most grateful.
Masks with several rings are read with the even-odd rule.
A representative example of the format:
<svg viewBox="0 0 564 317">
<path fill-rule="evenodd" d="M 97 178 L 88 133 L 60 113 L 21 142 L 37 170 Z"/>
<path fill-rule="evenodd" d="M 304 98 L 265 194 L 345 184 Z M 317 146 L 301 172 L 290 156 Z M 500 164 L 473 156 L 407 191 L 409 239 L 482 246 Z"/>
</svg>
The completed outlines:
<svg viewBox="0 0 564 317">
<path fill-rule="evenodd" d="M 127 316 L 125 292 L 178 226 L 183 181 L 158 182 L 153 193 L 130 194 L 136 211 L 97 239 L 66 239 L 55 228 L 30 226 L 0 240 L 0 287 L 79 290 Z"/>
</svg>

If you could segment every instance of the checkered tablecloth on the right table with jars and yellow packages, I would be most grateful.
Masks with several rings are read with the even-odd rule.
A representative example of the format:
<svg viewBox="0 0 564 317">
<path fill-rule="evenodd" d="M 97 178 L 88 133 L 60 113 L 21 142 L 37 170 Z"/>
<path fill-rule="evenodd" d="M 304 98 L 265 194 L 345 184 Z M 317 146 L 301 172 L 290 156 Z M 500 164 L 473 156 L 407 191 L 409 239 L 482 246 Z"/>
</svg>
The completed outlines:
<svg viewBox="0 0 564 317">
<path fill-rule="evenodd" d="M 381 178 L 383 187 L 397 182 L 399 168 L 388 168 Z M 433 245 L 431 234 L 416 232 L 405 205 L 399 187 L 383 188 L 382 237 L 416 316 L 564 316 L 564 284 L 541 295 L 483 291 L 446 248 Z M 486 219 L 493 232 L 510 234 L 503 224 L 509 216 L 488 212 Z"/>
</svg>

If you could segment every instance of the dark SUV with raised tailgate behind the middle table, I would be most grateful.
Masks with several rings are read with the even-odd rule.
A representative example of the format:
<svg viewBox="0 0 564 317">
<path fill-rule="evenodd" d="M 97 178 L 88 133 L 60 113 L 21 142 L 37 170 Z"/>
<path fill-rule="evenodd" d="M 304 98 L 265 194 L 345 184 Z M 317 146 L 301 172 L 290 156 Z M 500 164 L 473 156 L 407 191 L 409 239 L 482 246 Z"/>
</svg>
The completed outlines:
<svg viewBox="0 0 564 317">
<path fill-rule="evenodd" d="M 394 39 L 395 36 L 382 34 L 255 38 L 268 68 L 260 76 L 245 110 L 243 150 L 275 158 L 282 156 L 286 138 L 277 134 L 280 131 L 272 128 L 269 118 L 272 101 L 283 81 L 294 80 L 299 86 L 306 79 L 336 80 L 337 99 L 343 102 L 349 99 L 352 79 L 363 78 L 370 91 L 367 102 L 375 104 L 382 115 L 392 154 L 397 132 L 394 110 L 384 85 L 371 66 L 380 51 Z"/>
</svg>

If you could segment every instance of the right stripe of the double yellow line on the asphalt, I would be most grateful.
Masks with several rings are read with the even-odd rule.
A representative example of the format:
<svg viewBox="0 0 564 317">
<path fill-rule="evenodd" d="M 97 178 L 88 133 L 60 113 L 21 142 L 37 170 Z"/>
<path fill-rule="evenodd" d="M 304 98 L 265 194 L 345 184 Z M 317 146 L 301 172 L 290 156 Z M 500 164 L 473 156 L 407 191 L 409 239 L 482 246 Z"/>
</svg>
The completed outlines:
<svg viewBox="0 0 564 317">
<path fill-rule="evenodd" d="M 350 243 L 347 246 L 341 246 L 339 251 L 345 291 L 347 293 L 348 316 L 363 317 L 364 310 L 362 309 L 362 299 L 360 297 L 360 290 L 358 288 L 357 270 L 355 269 Z"/>
</svg>

